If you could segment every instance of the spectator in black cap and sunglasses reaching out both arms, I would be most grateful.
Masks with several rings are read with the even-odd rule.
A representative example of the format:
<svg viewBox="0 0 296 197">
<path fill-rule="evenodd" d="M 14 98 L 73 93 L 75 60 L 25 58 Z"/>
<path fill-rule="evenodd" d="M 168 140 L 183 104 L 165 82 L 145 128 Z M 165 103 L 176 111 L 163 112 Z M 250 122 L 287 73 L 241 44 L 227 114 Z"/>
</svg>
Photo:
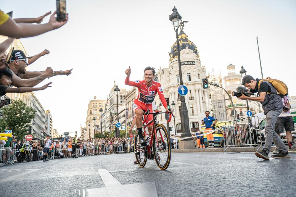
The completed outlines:
<svg viewBox="0 0 296 197">
<path fill-rule="evenodd" d="M 48 54 L 49 51 L 46 50 L 44 51 L 43 54 Z M 26 71 L 26 67 L 35 62 L 38 58 L 40 57 L 40 54 L 37 54 L 35 56 L 32 57 L 26 57 L 25 53 L 21 50 L 14 50 L 12 52 L 12 59 L 11 59 L 11 63 L 9 64 L 9 69 L 12 70 L 12 72 L 17 75 L 17 77 L 20 77 L 21 79 L 31 79 L 34 77 L 43 77 L 44 74 L 47 73 L 47 70 L 45 71 L 34 71 L 34 72 L 29 72 Z M 72 72 L 71 70 L 65 70 L 65 71 L 53 71 L 52 69 L 50 69 L 52 73 L 49 73 L 50 71 L 48 71 L 48 73 L 50 74 L 49 77 L 52 76 L 56 76 L 56 75 L 70 75 Z M 14 83 L 12 82 L 12 85 L 14 85 Z"/>
</svg>

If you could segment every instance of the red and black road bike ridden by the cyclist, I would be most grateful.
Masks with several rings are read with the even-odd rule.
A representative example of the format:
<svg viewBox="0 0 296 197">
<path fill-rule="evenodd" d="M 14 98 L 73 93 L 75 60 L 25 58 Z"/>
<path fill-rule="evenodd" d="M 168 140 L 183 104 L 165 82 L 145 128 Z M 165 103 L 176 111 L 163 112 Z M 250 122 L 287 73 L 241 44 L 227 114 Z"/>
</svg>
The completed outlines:
<svg viewBox="0 0 296 197">
<path fill-rule="evenodd" d="M 140 167 L 144 167 L 146 165 L 147 159 L 154 158 L 157 166 L 160 169 L 165 170 L 168 168 L 171 158 L 170 133 L 163 124 L 157 123 L 156 116 L 158 114 L 169 114 L 169 119 L 167 121 L 170 122 L 173 114 L 160 111 L 150 113 L 150 110 L 148 109 L 147 112 L 144 113 L 143 124 L 147 120 L 149 114 L 152 114 L 153 118 L 143 127 L 144 136 L 147 144 L 141 145 L 139 143 L 138 131 L 135 135 L 136 161 Z M 154 125 L 151 130 L 151 135 L 149 135 L 146 133 L 145 128 L 152 123 L 154 123 Z M 152 137 L 152 140 L 150 136 Z"/>
</svg>

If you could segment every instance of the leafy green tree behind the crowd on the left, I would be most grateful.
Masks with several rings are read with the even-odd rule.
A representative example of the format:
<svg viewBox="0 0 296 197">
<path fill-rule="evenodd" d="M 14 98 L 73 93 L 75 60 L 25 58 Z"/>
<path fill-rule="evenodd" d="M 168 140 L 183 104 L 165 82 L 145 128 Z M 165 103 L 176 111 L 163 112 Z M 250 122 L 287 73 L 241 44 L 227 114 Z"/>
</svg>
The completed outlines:
<svg viewBox="0 0 296 197">
<path fill-rule="evenodd" d="M 20 139 L 28 134 L 30 122 L 35 117 L 36 111 L 17 99 L 12 100 L 9 106 L 2 108 L 2 114 L 8 129 Z"/>
</svg>

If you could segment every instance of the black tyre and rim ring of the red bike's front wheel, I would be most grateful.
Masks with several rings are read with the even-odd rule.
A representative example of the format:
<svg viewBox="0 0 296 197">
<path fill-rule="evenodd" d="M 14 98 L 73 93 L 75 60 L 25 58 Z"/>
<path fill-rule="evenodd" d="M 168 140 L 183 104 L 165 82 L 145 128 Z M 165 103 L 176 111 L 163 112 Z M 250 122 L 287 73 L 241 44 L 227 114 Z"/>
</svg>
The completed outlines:
<svg viewBox="0 0 296 197">
<path fill-rule="evenodd" d="M 170 134 L 168 133 L 168 130 L 166 129 L 166 127 L 163 125 L 163 124 L 158 124 L 155 126 L 156 128 L 156 134 L 159 133 L 161 130 L 162 130 L 162 136 L 164 138 L 164 135 L 165 135 L 165 138 L 166 138 L 166 141 L 167 141 L 167 145 L 165 146 L 165 150 L 161 150 L 162 148 L 157 148 L 157 145 L 155 144 L 155 135 L 153 135 L 153 144 L 152 144 L 152 147 L 153 147 L 153 154 L 154 154 L 154 158 L 155 158 L 155 163 L 157 164 L 157 166 L 159 167 L 159 169 L 161 170 L 165 170 L 168 168 L 168 166 L 170 165 L 170 158 L 171 158 L 171 155 L 172 155 L 172 148 L 170 146 Z M 157 142 L 158 143 L 158 142 Z M 165 153 L 165 151 L 167 151 L 167 159 L 165 161 L 165 163 L 161 162 L 160 163 L 160 160 L 158 158 L 160 158 L 159 156 L 159 152 L 163 151 L 163 153 Z"/>
</svg>

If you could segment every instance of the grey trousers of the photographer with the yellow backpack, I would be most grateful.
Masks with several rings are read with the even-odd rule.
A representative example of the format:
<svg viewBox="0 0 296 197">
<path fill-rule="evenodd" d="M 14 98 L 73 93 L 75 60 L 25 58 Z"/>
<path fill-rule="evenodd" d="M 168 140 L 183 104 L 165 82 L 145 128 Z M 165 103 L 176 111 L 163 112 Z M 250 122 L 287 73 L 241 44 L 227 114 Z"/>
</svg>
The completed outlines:
<svg viewBox="0 0 296 197">
<path fill-rule="evenodd" d="M 269 111 L 266 114 L 266 121 L 265 121 L 265 144 L 263 146 L 263 149 L 269 153 L 272 141 L 274 141 L 276 148 L 278 148 L 279 151 L 287 152 L 287 148 L 284 145 L 283 141 L 279 137 L 279 135 L 274 131 L 274 125 L 276 124 L 276 120 L 279 117 L 279 114 L 281 114 L 283 110 L 275 110 L 275 111 Z"/>
</svg>

